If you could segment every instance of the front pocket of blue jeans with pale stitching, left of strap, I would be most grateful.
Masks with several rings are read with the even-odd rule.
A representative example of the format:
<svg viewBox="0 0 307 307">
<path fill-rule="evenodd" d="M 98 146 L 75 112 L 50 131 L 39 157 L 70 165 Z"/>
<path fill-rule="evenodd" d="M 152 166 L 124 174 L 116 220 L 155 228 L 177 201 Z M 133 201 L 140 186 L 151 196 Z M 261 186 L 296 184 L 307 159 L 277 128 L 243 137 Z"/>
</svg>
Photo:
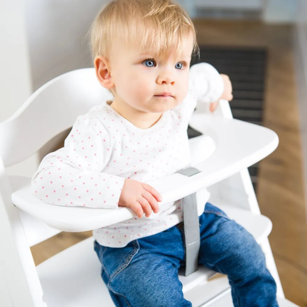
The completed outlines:
<svg viewBox="0 0 307 307">
<path fill-rule="evenodd" d="M 139 249 L 138 240 L 131 241 L 124 247 L 106 248 L 103 252 L 101 263 L 103 269 L 110 277 L 110 282 L 129 265 Z"/>
</svg>

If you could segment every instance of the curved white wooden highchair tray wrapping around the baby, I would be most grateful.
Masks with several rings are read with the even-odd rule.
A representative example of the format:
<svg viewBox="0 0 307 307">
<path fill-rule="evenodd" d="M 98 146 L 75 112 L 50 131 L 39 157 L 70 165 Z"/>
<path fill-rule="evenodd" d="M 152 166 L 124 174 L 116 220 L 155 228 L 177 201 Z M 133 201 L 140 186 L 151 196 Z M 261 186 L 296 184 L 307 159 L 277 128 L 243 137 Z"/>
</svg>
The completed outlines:
<svg viewBox="0 0 307 307">
<path fill-rule="evenodd" d="M 190 140 L 198 145 L 198 151 L 202 148 L 202 140 L 208 136 L 213 139 L 216 149 L 204 161 L 201 161 L 201 152 L 193 153 L 192 166 L 199 169 L 200 173 L 192 177 L 174 173 L 147 182 L 163 197 L 160 206 L 213 185 L 253 165 L 269 155 L 278 145 L 278 136 L 274 131 L 236 119 L 193 114 L 190 126 L 204 134 L 192 139 L 193 141 Z M 124 207 L 102 209 L 46 204 L 32 195 L 30 180 L 25 179 L 20 181 L 19 187 L 12 193 L 13 204 L 53 228 L 62 231 L 87 231 L 136 216 L 131 209 Z"/>
</svg>

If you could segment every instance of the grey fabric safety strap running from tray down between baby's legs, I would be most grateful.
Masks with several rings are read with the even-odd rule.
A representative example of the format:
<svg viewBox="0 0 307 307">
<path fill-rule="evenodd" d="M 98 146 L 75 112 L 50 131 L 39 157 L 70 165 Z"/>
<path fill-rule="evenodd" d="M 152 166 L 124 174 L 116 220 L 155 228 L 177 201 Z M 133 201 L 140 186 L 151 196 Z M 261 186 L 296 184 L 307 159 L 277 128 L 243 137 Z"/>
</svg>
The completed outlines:
<svg viewBox="0 0 307 307">
<path fill-rule="evenodd" d="M 186 176 L 193 176 L 200 171 L 196 168 L 188 168 L 178 171 Z M 198 252 L 200 247 L 199 218 L 197 214 L 196 193 L 182 199 L 183 223 L 185 237 L 185 276 L 197 270 Z"/>
</svg>

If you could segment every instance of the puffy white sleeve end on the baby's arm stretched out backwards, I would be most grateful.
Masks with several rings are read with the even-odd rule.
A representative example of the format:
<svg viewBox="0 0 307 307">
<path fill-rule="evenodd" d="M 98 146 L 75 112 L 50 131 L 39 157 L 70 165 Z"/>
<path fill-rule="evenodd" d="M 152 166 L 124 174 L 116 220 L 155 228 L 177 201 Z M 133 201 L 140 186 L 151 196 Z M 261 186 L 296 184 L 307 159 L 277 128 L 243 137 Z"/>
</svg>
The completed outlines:
<svg viewBox="0 0 307 307">
<path fill-rule="evenodd" d="M 197 100 L 214 102 L 224 91 L 224 82 L 219 72 L 208 63 L 194 64 L 190 68 L 189 88 Z"/>
</svg>

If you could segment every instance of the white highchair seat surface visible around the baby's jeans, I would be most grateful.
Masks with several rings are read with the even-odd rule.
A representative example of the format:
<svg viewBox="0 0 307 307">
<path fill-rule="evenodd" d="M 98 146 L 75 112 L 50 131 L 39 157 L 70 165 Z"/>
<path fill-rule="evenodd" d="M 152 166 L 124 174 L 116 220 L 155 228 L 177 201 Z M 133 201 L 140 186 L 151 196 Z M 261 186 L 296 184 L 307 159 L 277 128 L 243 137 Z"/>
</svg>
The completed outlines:
<svg viewBox="0 0 307 307">
<path fill-rule="evenodd" d="M 272 224 L 267 217 L 252 214 L 247 210 L 217 205 L 251 232 L 258 243 L 269 235 Z M 48 307 L 114 307 L 107 287 L 100 277 L 101 264 L 93 249 L 93 241 L 93 237 L 85 239 L 37 266 Z M 214 274 L 214 271 L 199 266 L 196 272 L 185 277 L 181 268 L 179 280 L 184 295 L 191 296 L 195 287 L 201 288 L 205 285 L 207 300 L 211 299 L 216 295 L 217 282 L 208 283 L 207 279 Z M 219 280 L 219 291 L 228 291 L 228 288 L 227 278 Z"/>
</svg>

